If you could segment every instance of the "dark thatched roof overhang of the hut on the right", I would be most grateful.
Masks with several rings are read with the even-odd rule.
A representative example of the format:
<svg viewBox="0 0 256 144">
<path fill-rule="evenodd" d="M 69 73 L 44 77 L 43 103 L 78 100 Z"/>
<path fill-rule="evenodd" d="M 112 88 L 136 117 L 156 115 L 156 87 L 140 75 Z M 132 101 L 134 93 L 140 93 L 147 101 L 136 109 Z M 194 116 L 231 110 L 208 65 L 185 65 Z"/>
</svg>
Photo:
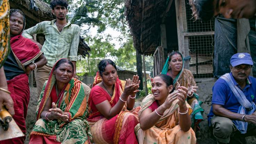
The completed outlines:
<svg viewBox="0 0 256 144">
<path fill-rule="evenodd" d="M 172 0 L 125 1 L 125 16 L 133 36 L 134 48 L 140 53 L 151 55 L 160 45 L 160 24 L 168 12 L 170 1 L 172 3 Z"/>
</svg>

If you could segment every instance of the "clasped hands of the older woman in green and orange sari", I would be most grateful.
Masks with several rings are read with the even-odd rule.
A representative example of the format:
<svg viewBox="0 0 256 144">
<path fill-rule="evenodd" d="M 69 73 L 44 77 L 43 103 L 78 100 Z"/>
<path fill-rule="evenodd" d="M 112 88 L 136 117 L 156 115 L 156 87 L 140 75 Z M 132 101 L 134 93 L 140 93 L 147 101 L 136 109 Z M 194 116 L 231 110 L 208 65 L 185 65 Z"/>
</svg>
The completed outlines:
<svg viewBox="0 0 256 144">
<path fill-rule="evenodd" d="M 52 108 L 49 109 L 51 117 L 53 119 L 59 119 L 61 121 L 68 121 L 68 114 L 63 112 L 61 109 L 57 108 L 56 104 L 52 103 Z"/>
</svg>

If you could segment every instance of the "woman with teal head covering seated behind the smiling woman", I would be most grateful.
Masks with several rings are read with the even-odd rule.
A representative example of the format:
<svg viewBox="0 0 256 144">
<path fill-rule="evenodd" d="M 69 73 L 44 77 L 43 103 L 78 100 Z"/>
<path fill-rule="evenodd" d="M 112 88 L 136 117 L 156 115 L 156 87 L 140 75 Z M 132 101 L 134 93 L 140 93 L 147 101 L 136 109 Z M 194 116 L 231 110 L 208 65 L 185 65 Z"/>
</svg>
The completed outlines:
<svg viewBox="0 0 256 144">
<path fill-rule="evenodd" d="M 172 52 L 170 56 L 167 58 L 164 68 L 162 70 L 162 74 L 169 75 L 173 78 L 173 84 L 175 90 L 177 86 L 184 86 L 188 88 L 188 97 L 187 101 L 193 112 L 191 113 L 191 127 L 196 132 L 197 128 L 199 129 L 199 123 L 203 120 L 203 112 L 204 110 L 200 107 L 202 103 L 199 101 L 199 97 L 196 94 L 196 82 L 194 76 L 191 71 L 188 69 L 184 69 L 184 59 L 180 52 Z"/>
</svg>

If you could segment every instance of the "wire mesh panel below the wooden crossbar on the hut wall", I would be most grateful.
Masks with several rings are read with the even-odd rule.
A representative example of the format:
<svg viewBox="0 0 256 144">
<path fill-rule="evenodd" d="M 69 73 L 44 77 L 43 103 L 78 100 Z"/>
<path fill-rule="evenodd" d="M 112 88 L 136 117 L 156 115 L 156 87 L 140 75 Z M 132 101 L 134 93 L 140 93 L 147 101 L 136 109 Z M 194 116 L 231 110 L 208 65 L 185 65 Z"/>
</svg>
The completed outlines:
<svg viewBox="0 0 256 144">
<path fill-rule="evenodd" d="M 185 47 L 189 49 L 189 68 L 194 77 L 213 77 L 214 35 L 188 36 L 187 40 Z"/>
</svg>

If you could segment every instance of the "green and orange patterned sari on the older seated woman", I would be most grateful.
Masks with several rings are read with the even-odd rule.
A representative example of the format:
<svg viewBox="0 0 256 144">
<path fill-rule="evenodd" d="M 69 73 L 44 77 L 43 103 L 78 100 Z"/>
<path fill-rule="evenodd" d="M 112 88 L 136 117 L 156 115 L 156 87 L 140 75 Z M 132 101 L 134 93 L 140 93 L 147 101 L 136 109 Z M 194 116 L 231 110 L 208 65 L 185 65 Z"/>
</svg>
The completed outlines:
<svg viewBox="0 0 256 144">
<path fill-rule="evenodd" d="M 38 120 L 31 132 L 30 143 L 39 144 L 41 141 L 61 144 L 90 143 L 92 136 L 89 123 L 86 121 L 86 117 L 89 114 L 87 101 L 83 86 L 78 79 L 72 78 L 66 84 L 65 90 L 61 92 L 61 96 L 56 102 L 57 108 L 69 113 L 69 121 L 64 122 L 57 119 L 48 121 L 41 118 L 41 112 L 55 85 L 55 81 L 52 69 L 49 79 L 44 83 L 40 94 L 36 111 Z"/>
</svg>

